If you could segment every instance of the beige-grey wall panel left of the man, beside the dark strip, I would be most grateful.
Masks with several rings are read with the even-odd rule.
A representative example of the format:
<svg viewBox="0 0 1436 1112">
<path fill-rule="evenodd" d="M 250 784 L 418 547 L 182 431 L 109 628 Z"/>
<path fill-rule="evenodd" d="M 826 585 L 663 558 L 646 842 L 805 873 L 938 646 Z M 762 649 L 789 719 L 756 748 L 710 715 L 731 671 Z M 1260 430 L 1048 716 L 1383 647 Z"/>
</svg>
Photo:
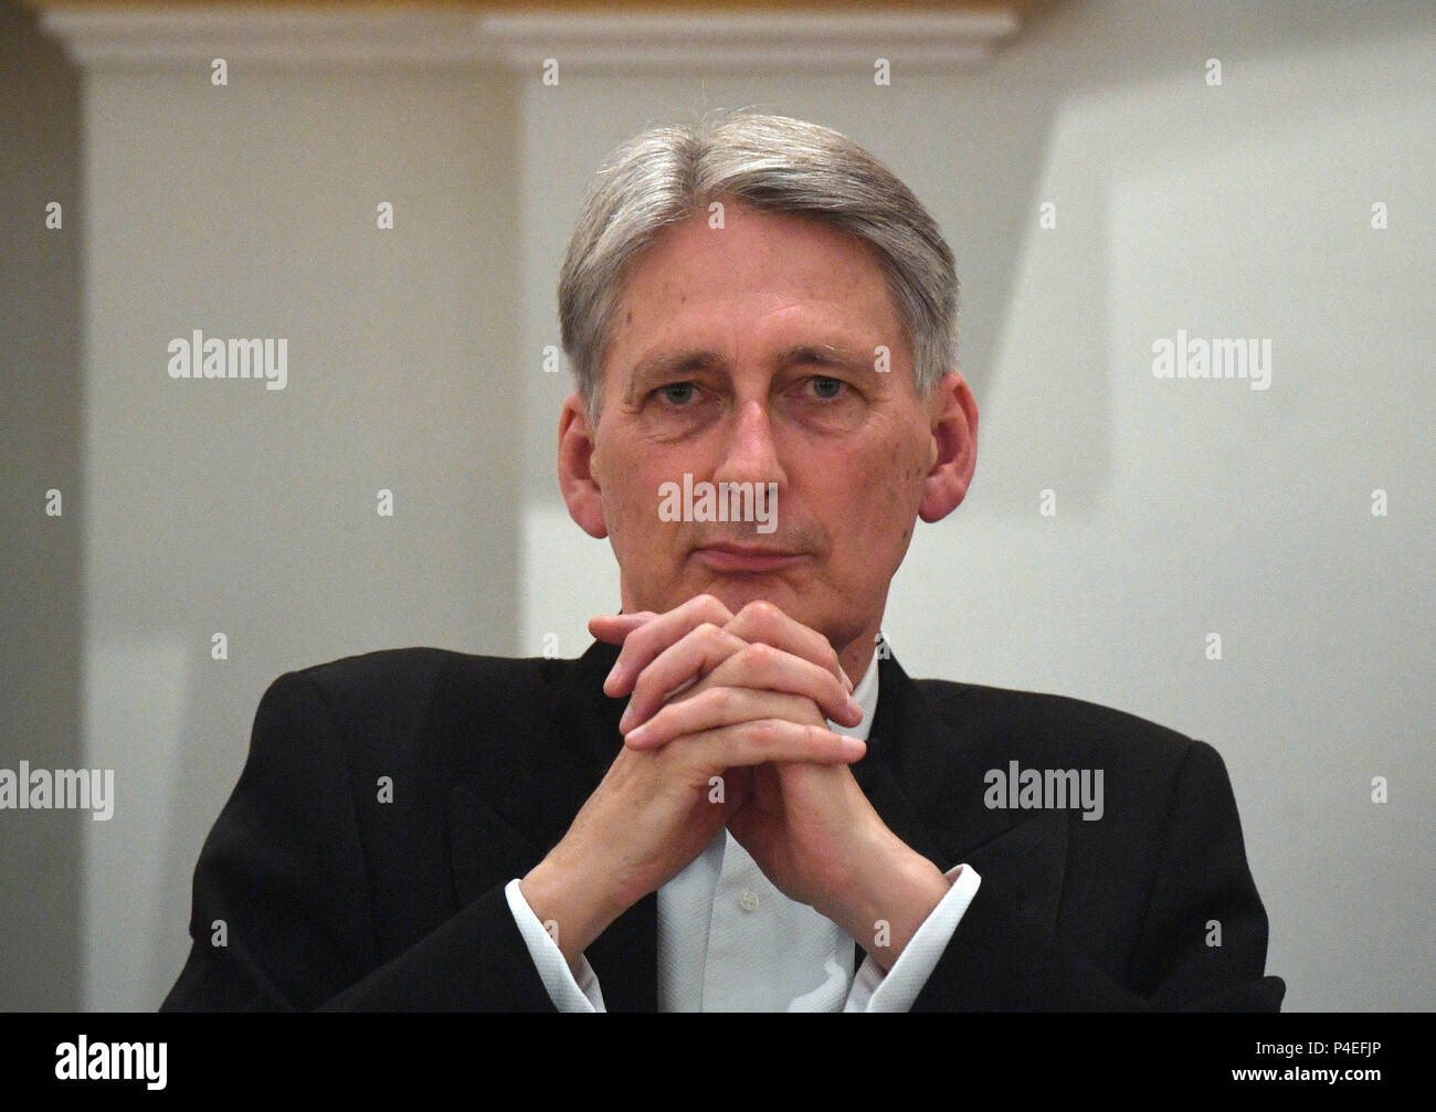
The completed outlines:
<svg viewBox="0 0 1436 1112">
<path fill-rule="evenodd" d="M 190 875 L 276 676 L 516 649 L 510 93 L 468 72 L 228 76 L 86 85 L 83 715 L 119 796 L 88 831 L 98 1009 L 152 1009 L 178 976 Z M 192 329 L 287 339 L 287 386 L 172 380 Z"/>
</svg>

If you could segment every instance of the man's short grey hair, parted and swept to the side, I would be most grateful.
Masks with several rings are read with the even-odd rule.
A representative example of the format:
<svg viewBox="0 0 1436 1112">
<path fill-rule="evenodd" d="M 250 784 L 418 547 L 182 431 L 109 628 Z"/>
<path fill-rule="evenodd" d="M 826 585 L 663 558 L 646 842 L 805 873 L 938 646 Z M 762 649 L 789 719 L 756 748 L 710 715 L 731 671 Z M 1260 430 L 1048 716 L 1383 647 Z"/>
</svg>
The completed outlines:
<svg viewBox="0 0 1436 1112">
<path fill-rule="evenodd" d="M 830 128 L 740 109 L 649 128 L 595 174 L 559 277 L 563 350 L 590 423 L 599 418 L 603 356 L 625 264 L 665 225 L 719 198 L 813 217 L 876 248 L 912 346 L 918 395 L 929 397 L 956 369 L 956 268 L 936 221 L 912 191 Z"/>
</svg>

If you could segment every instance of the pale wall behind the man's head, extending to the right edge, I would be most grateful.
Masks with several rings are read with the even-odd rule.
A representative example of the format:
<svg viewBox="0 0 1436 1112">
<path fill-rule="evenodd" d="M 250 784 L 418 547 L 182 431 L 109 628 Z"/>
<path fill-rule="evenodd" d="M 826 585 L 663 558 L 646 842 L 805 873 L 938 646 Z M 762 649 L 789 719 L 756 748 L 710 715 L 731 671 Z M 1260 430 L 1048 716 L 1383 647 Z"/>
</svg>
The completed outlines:
<svg viewBox="0 0 1436 1112">
<path fill-rule="evenodd" d="M 892 89 L 707 73 L 526 102 L 530 350 L 556 341 L 579 171 L 651 116 L 761 102 L 853 136 L 929 205 L 981 448 L 968 502 L 898 577 L 895 653 L 1215 745 L 1294 1010 L 1436 1006 L 1432 29 L 1417 4 L 1074 3 L 988 66 Z M 1271 339 L 1271 387 L 1155 379 L 1178 329 Z M 566 389 L 528 379 L 540 475 Z M 586 643 L 616 607 L 612 555 L 551 482 L 528 489 L 526 539 L 526 651 Z"/>
</svg>

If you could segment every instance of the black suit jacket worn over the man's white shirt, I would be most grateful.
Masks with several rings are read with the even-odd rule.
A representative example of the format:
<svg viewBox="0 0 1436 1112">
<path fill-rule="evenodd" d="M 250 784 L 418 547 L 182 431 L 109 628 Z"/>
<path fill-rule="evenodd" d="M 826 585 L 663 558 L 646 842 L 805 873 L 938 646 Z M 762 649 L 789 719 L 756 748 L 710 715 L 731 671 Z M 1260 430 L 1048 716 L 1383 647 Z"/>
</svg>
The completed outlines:
<svg viewBox="0 0 1436 1112">
<path fill-rule="evenodd" d="M 195 867 L 194 946 L 164 1007 L 551 1010 L 504 885 L 622 746 L 626 700 L 602 692 L 616 657 L 406 649 L 276 680 Z M 982 877 L 913 1010 L 1279 1007 L 1211 746 L 1074 699 L 879 667 L 853 772 L 908 845 Z M 1101 819 L 989 809 L 985 772 L 1010 760 L 1103 769 Z M 610 1010 L 658 1006 L 656 907 L 649 894 L 586 951 Z"/>
</svg>

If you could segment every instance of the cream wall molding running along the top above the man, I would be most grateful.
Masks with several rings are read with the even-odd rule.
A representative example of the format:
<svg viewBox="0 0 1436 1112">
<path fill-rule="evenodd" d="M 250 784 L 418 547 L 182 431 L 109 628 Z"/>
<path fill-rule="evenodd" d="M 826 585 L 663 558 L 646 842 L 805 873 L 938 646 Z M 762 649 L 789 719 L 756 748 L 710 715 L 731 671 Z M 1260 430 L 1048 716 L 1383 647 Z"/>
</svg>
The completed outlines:
<svg viewBox="0 0 1436 1112">
<path fill-rule="evenodd" d="M 537 72 L 948 69 L 989 56 L 1017 11 L 455 11 L 437 9 L 95 7 L 47 4 L 45 30 L 85 67 L 224 57 L 274 66 L 503 66 Z"/>
</svg>

